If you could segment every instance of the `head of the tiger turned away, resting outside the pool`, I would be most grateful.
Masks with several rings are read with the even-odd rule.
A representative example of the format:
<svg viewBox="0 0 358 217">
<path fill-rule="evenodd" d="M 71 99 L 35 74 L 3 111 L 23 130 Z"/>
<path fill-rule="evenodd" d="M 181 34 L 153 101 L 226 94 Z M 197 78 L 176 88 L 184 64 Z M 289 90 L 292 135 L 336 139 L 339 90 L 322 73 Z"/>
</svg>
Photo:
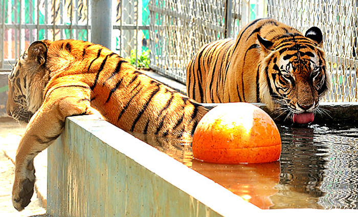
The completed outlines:
<svg viewBox="0 0 358 217">
<path fill-rule="evenodd" d="M 46 59 L 47 46 L 36 41 L 18 58 L 9 74 L 6 110 L 9 116 L 18 121 L 29 122 L 42 104 Z"/>
</svg>

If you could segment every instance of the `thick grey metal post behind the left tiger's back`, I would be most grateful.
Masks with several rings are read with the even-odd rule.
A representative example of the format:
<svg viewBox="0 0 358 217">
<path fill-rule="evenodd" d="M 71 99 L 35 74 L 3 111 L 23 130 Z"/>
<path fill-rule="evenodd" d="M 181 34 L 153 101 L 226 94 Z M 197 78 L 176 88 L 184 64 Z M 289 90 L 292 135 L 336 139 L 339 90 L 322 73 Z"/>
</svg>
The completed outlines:
<svg viewBox="0 0 358 217">
<path fill-rule="evenodd" d="M 112 1 L 91 1 L 91 41 L 112 49 Z"/>
</svg>

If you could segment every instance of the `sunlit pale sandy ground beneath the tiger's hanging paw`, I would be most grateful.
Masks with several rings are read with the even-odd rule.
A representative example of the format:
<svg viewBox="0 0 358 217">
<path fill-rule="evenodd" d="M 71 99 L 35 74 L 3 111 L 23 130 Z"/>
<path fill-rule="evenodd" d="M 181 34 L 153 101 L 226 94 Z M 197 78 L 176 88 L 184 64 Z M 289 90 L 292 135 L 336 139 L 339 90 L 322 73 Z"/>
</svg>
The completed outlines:
<svg viewBox="0 0 358 217">
<path fill-rule="evenodd" d="M 37 197 L 37 190 L 25 210 L 18 212 L 11 202 L 11 190 L 14 179 L 14 158 L 18 143 L 25 132 L 26 124 L 19 124 L 10 118 L 0 118 L 0 216 L 50 216 L 46 213 L 46 206 Z M 36 157 L 37 158 L 37 157 Z M 35 158 L 35 161 L 36 161 Z M 43 161 L 44 157 L 41 159 Z M 47 163 L 47 162 L 46 162 Z M 36 165 L 35 165 L 36 166 Z M 46 170 L 46 168 L 40 168 Z M 36 176 L 37 176 L 36 168 Z M 46 177 L 46 175 L 44 175 Z M 41 180 L 42 178 L 40 178 Z"/>
</svg>

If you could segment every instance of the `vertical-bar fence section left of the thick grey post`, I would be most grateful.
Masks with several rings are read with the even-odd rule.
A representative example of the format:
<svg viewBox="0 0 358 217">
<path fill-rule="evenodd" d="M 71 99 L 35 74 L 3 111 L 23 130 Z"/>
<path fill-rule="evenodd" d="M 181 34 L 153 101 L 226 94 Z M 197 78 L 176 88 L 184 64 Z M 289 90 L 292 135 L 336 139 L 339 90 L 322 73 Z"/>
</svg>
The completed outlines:
<svg viewBox="0 0 358 217">
<path fill-rule="evenodd" d="M 0 3 L 0 69 L 9 70 L 31 42 L 88 40 L 88 1 L 19 0 Z"/>
</svg>

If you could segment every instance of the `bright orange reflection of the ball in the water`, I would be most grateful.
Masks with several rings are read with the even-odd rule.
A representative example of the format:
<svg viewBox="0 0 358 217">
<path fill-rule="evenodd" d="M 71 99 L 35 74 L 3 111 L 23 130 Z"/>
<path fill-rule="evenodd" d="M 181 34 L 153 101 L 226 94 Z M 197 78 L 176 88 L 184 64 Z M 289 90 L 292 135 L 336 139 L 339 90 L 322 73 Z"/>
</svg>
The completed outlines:
<svg viewBox="0 0 358 217">
<path fill-rule="evenodd" d="M 270 196 L 280 181 L 280 162 L 262 164 L 213 164 L 193 160 L 192 168 L 262 209 L 274 204 Z"/>
</svg>

